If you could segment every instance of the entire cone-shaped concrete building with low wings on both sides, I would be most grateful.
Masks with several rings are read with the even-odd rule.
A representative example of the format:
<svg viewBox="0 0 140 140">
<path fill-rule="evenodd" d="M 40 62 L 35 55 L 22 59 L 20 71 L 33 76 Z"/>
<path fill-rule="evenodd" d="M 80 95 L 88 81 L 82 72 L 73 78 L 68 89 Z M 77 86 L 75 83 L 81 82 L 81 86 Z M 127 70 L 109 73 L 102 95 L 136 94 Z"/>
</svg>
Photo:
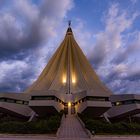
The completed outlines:
<svg viewBox="0 0 140 140">
<path fill-rule="evenodd" d="M 140 96 L 113 95 L 100 81 L 67 29 L 39 78 L 23 93 L 0 93 L 0 117 L 4 114 L 32 120 L 65 110 L 92 117 L 117 119 L 140 112 Z"/>
</svg>

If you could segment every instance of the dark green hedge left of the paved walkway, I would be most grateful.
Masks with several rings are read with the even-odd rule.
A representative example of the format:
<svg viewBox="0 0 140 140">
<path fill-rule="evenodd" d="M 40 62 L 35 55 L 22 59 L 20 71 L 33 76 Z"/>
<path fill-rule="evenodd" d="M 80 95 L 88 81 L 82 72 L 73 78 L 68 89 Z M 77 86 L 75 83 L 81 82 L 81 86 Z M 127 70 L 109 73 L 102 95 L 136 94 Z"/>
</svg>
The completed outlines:
<svg viewBox="0 0 140 140">
<path fill-rule="evenodd" d="M 8 121 L 0 123 L 0 133 L 44 134 L 56 133 L 60 126 L 61 115 L 34 122 Z"/>
</svg>

